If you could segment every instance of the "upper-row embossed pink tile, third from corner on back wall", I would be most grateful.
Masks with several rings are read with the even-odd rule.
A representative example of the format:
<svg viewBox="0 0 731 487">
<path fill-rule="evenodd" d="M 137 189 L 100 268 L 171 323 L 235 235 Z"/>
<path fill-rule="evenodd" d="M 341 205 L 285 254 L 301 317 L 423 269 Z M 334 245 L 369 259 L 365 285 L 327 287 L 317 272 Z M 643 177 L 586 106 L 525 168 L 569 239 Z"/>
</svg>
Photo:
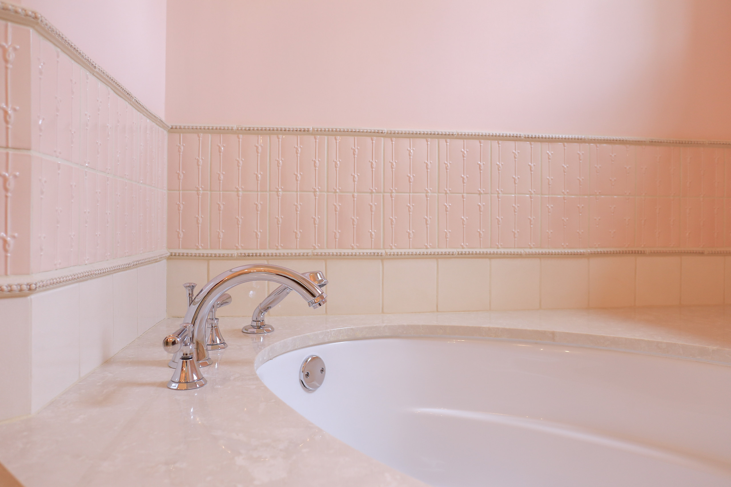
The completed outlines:
<svg viewBox="0 0 731 487">
<path fill-rule="evenodd" d="M 325 190 L 325 171 L 322 170 L 325 137 L 271 135 L 269 143 L 270 189 L 311 192 L 317 187 L 319 191 Z"/>
</svg>

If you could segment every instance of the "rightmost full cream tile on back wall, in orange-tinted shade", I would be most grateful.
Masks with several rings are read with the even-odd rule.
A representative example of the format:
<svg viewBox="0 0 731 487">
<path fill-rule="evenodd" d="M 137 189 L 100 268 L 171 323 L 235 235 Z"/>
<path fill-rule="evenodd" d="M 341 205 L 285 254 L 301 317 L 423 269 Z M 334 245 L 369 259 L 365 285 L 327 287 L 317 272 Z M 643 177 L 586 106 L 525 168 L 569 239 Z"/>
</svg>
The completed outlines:
<svg viewBox="0 0 731 487">
<path fill-rule="evenodd" d="M 681 263 L 681 304 L 724 303 L 724 257 L 689 255 Z"/>
</svg>

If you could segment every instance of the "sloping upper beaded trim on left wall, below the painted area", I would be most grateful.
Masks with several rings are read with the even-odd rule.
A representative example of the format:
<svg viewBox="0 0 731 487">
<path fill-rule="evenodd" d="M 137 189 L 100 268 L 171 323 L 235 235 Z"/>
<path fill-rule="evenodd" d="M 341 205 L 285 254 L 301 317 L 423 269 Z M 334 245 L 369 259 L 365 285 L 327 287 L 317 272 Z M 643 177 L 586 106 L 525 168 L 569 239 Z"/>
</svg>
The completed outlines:
<svg viewBox="0 0 731 487">
<path fill-rule="evenodd" d="M 135 95 L 132 94 L 127 88 L 122 86 L 118 80 L 109 74 L 104 68 L 96 64 L 83 50 L 80 50 L 63 32 L 59 31 L 52 23 L 46 20 L 43 15 L 40 15 L 34 10 L 29 10 L 18 5 L 9 4 L 4 1 L 0 1 L 0 19 L 7 20 L 13 23 L 19 23 L 26 26 L 30 26 L 35 29 L 39 34 L 53 42 L 58 48 L 71 56 L 77 63 L 83 65 L 88 71 L 95 72 L 102 81 L 108 83 L 111 88 L 121 97 L 124 97 L 132 105 L 137 107 L 138 110 L 145 113 L 155 124 L 159 125 L 163 129 L 170 129 L 170 126 L 165 121 L 156 115 L 152 110 L 145 106 Z"/>
</svg>

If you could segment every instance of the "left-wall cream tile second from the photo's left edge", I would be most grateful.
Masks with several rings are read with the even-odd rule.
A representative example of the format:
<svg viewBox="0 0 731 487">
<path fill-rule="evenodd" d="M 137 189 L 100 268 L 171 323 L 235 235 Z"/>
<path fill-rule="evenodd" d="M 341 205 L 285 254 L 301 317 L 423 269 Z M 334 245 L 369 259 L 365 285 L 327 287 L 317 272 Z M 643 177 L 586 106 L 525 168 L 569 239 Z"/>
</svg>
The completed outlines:
<svg viewBox="0 0 731 487">
<path fill-rule="evenodd" d="M 31 412 L 79 379 L 79 284 L 31 295 Z"/>
</svg>

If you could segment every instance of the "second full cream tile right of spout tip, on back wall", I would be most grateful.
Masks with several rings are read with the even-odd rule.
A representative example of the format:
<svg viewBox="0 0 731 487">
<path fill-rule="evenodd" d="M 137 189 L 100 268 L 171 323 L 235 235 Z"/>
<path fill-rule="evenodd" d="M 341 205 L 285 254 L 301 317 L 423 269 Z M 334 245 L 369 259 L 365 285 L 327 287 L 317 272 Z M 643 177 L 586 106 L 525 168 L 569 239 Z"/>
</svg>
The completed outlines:
<svg viewBox="0 0 731 487">
<path fill-rule="evenodd" d="M 383 312 L 436 311 L 436 259 L 383 261 Z"/>
</svg>

